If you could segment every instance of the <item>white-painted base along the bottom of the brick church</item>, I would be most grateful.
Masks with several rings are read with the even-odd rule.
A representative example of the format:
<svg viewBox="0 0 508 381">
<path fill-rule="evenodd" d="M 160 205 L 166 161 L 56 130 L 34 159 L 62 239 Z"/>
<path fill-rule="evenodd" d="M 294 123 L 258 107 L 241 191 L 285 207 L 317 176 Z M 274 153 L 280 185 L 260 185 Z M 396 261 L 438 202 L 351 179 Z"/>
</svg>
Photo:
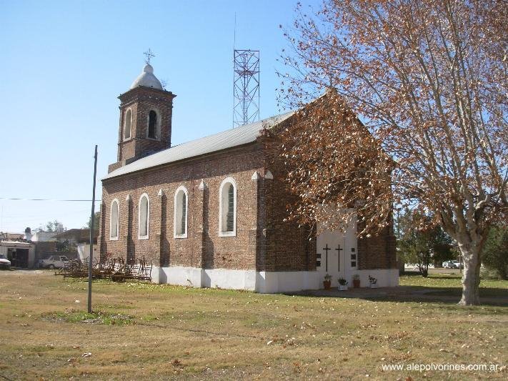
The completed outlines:
<svg viewBox="0 0 508 381">
<path fill-rule="evenodd" d="M 369 286 L 369 275 L 378 279 L 379 287 L 399 285 L 398 269 L 358 270 L 356 273 L 360 275 L 361 287 Z M 153 267 L 151 279 L 154 283 L 249 290 L 262 294 L 319 290 L 323 287 L 323 279 L 315 271 L 257 272 L 255 270 L 197 269 L 194 267 Z M 352 286 L 352 281 L 349 284 Z"/>
</svg>

